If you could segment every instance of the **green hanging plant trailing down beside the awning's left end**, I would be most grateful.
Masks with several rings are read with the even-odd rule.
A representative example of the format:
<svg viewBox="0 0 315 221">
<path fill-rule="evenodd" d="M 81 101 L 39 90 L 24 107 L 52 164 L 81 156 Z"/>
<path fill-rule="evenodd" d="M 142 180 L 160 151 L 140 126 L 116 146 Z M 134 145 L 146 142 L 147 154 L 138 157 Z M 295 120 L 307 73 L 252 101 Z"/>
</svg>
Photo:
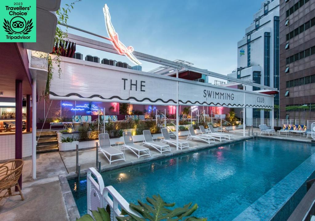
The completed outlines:
<svg viewBox="0 0 315 221">
<path fill-rule="evenodd" d="M 65 45 L 65 39 L 68 36 L 68 28 L 66 27 L 66 30 L 63 31 L 60 28 L 61 24 L 67 24 L 67 19 L 69 19 L 68 13 L 71 12 L 73 9 L 73 5 L 77 2 L 81 2 L 82 0 L 76 0 L 73 3 L 65 4 L 66 8 L 59 8 L 56 11 L 57 14 L 57 27 L 56 27 L 56 33 L 55 33 L 55 39 L 54 39 L 54 46 L 57 45 L 57 50 L 54 50 L 52 53 L 55 55 L 55 64 L 57 64 L 58 67 L 58 74 L 59 78 L 61 76 L 61 68 L 60 68 L 60 51 L 61 47 L 64 47 Z M 62 48 L 63 50 L 67 50 L 66 48 Z M 54 73 L 54 67 L 53 67 L 53 61 L 51 58 L 51 55 L 49 54 L 48 56 L 48 76 L 47 76 L 47 83 L 46 83 L 46 89 L 43 92 L 43 97 L 45 100 L 49 98 L 49 91 L 50 91 L 50 85 L 51 85 L 51 80 L 53 79 L 53 73 Z"/>
</svg>

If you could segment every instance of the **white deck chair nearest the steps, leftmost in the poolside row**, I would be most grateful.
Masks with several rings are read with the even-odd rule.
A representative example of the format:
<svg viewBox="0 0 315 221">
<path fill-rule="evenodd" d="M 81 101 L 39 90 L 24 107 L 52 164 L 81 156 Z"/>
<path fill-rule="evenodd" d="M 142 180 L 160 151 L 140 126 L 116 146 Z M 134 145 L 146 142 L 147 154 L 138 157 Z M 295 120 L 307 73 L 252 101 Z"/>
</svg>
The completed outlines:
<svg viewBox="0 0 315 221">
<path fill-rule="evenodd" d="M 112 162 L 118 161 L 118 160 L 125 160 L 125 155 L 120 150 L 117 150 L 116 148 L 111 146 L 111 142 L 109 140 L 109 135 L 107 133 L 105 134 L 99 134 L 99 151 L 104 154 L 104 156 L 109 161 L 109 164 L 112 164 Z M 118 159 L 112 160 L 113 156 L 118 156 Z"/>
</svg>

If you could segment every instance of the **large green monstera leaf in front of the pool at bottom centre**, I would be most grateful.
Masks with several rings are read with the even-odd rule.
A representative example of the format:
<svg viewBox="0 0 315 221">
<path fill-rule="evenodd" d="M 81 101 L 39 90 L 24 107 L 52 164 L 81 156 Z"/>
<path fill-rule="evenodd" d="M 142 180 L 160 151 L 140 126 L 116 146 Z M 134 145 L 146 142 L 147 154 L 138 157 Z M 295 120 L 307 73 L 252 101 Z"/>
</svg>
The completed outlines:
<svg viewBox="0 0 315 221">
<path fill-rule="evenodd" d="M 171 208 L 175 206 L 175 203 L 166 203 L 163 201 L 160 195 L 147 197 L 146 201 L 150 204 L 143 203 L 138 200 L 139 205 L 130 203 L 130 208 L 138 212 L 142 218 L 122 210 L 122 215 L 128 215 L 126 217 L 116 217 L 118 221 L 206 221 L 206 218 L 190 217 L 190 215 L 198 208 L 197 204 L 192 206 L 192 203 L 186 204 L 184 207 Z"/>
</svg>

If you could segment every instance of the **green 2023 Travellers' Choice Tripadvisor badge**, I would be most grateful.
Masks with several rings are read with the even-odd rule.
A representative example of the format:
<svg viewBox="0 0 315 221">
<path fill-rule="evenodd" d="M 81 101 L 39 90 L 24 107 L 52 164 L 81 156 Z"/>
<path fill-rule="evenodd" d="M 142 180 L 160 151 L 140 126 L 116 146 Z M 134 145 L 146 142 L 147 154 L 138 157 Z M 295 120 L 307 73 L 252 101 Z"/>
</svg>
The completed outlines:
<svg viewBox="0 0 315 221">
<path fill-rule="evenodd" d="M 36 42 L 36 0 L 1 0 L 0 23 L 0 42 Z"/>
</svg>

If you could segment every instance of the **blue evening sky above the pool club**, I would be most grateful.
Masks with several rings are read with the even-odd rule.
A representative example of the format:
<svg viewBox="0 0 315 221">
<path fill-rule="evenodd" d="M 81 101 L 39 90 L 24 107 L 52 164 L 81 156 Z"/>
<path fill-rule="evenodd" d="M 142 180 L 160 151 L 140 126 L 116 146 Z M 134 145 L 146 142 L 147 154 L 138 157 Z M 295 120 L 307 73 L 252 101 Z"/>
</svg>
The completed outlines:
<svg viewBox="0 0 315 221">
<path fill-rule="evenodd" d="M 62 0 L 61 7 L 75 0 Z M 106 36 L 103 6 L 124 45 L 135 51 L 193 63 L 227 75 L 237 68 L 237 42 L 253 22 L 262 0 L 82 0 L 69 13 L 68 25 Z M 109 41 L 73 29 L 69 33 Z M 124 56 L 77 46 L 77 52 L 133 64 Z M 142 70 L 160 65 L 141 61 Z M 213 80 L 213 79 L 212 79 Z M 211 80 L 209 81 L 211 82 Z"/>
</svg>

